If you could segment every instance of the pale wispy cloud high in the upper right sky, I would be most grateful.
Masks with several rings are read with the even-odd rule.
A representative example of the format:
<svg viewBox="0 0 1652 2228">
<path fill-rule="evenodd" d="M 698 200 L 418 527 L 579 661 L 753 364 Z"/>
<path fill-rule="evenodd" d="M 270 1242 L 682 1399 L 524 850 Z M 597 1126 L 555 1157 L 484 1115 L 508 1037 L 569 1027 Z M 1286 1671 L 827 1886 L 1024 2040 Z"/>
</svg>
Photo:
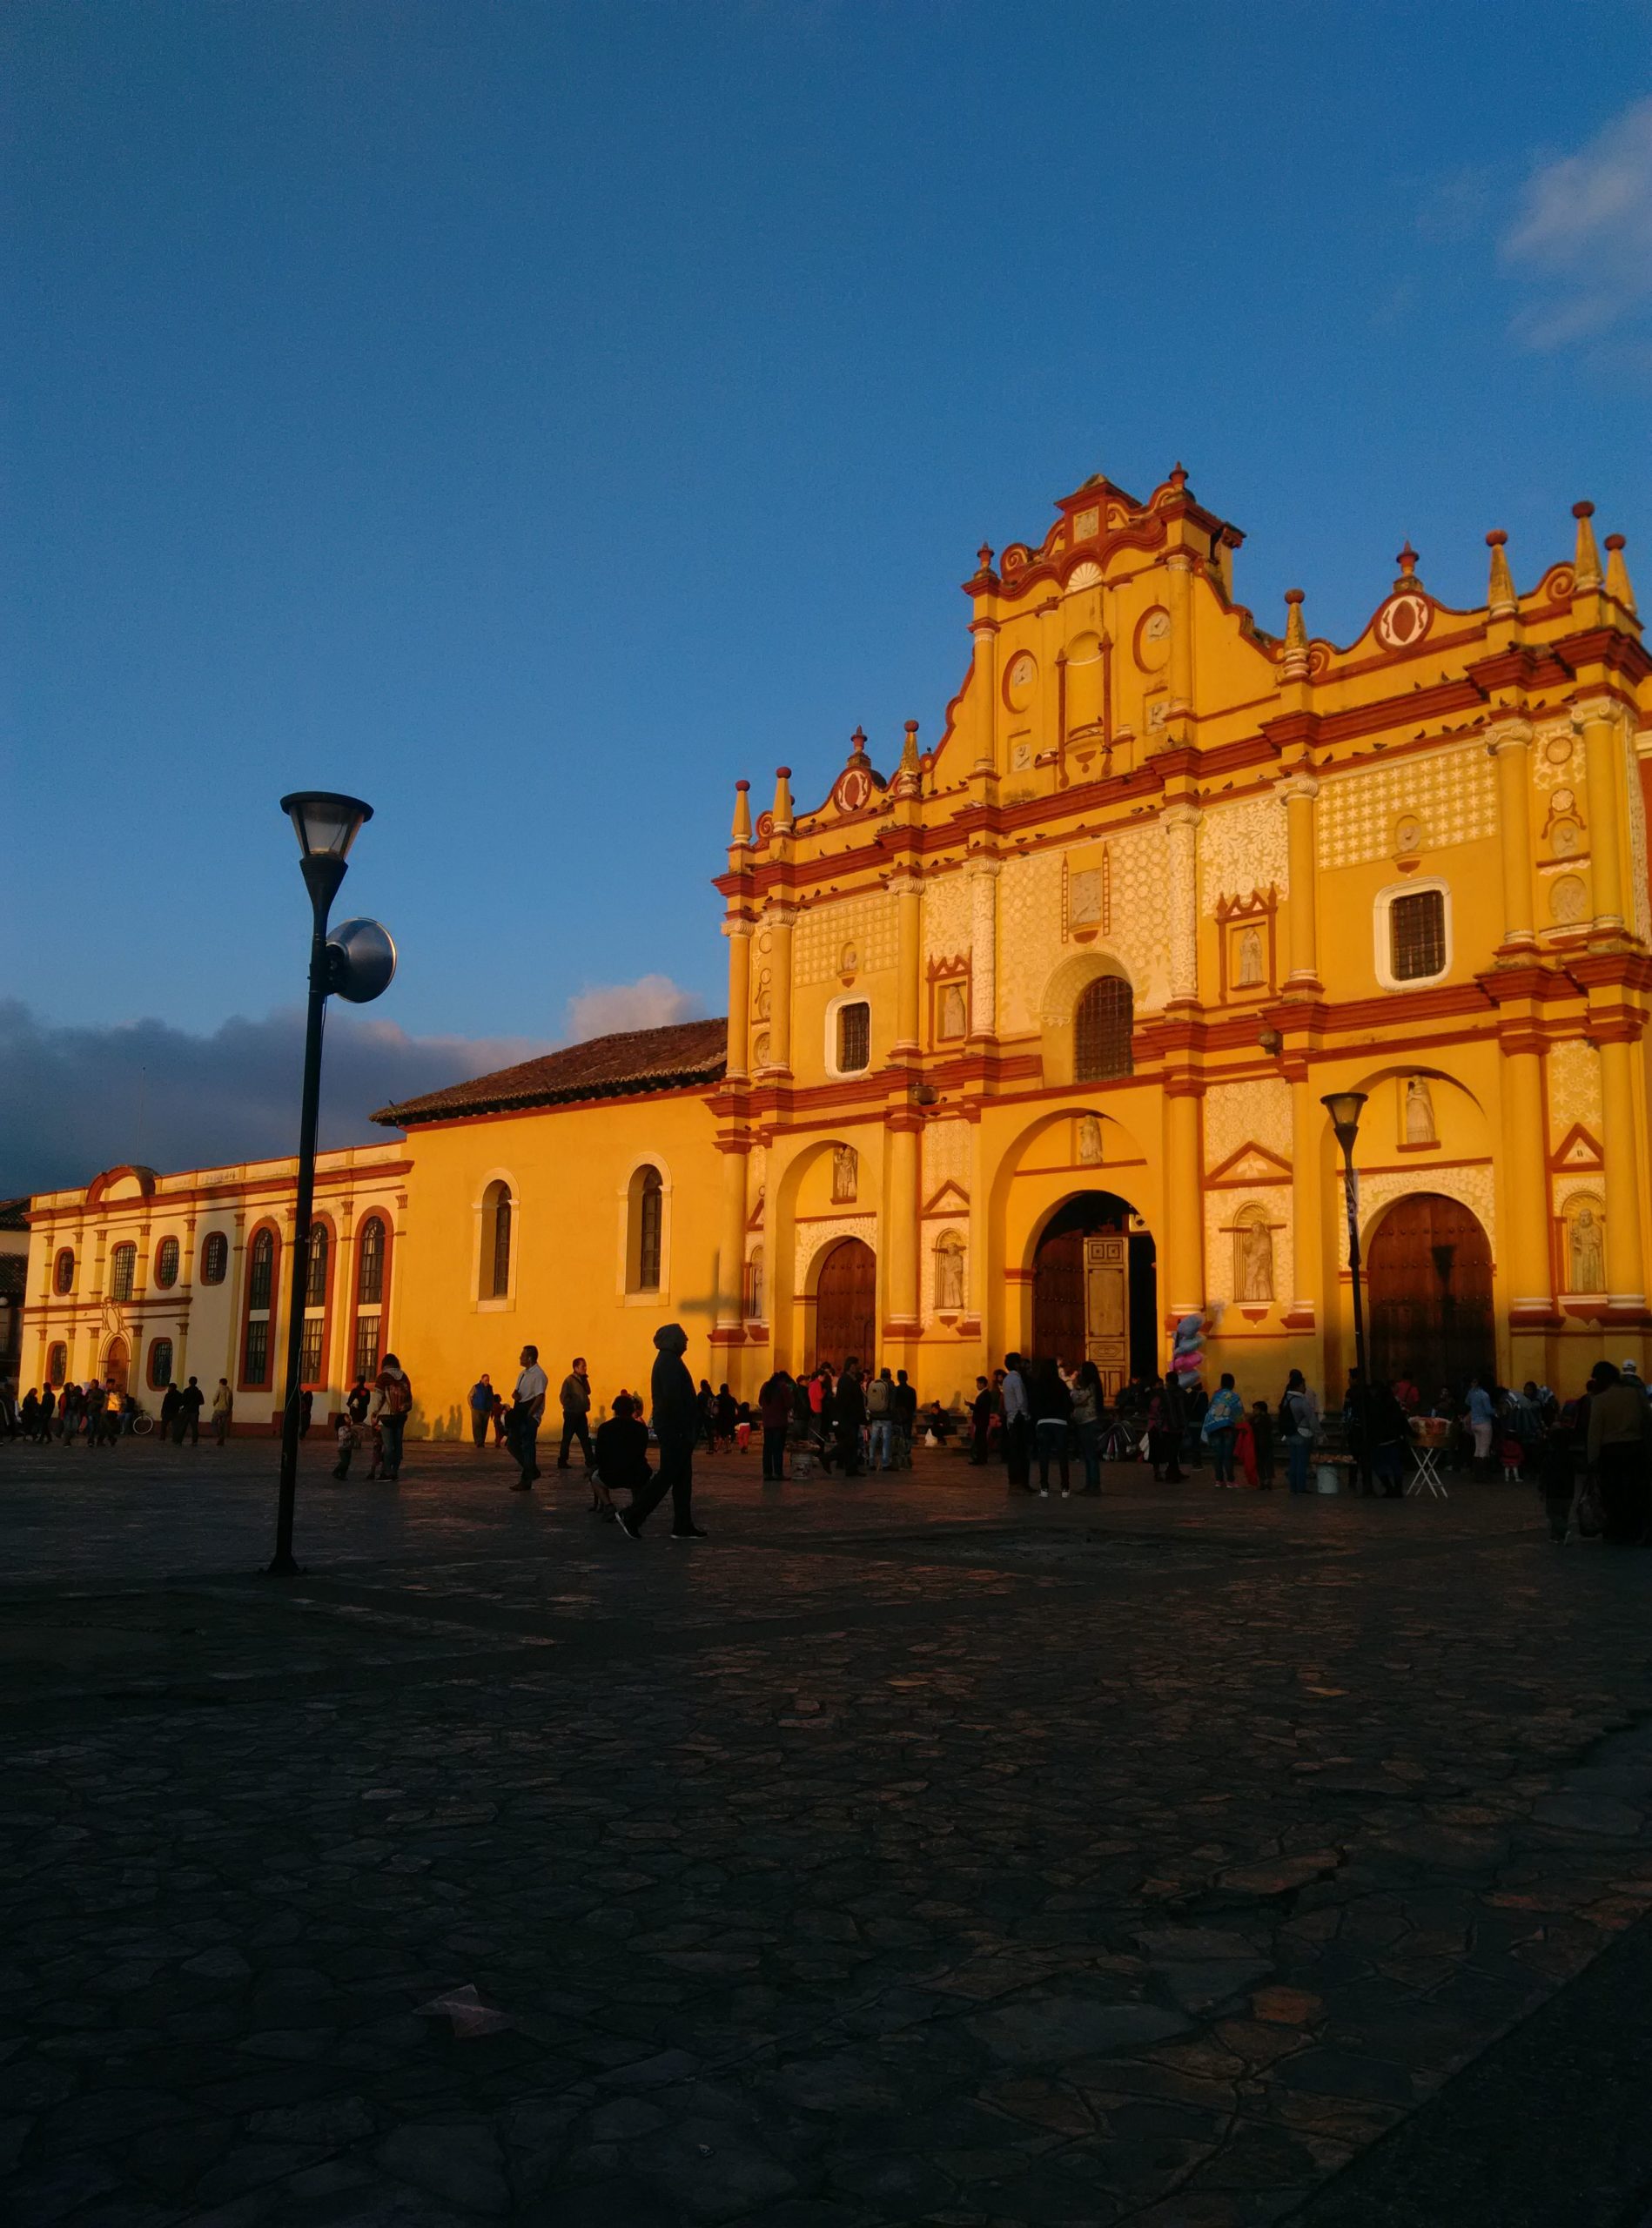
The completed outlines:
<svg viewBox="0 0 1652 2228">
<path fill-rule="evenodd" d="M 1652 307 L 1652 96 L 1532 174 L 1503 258 L 1541 290 L 1514 321 L 1527 348 L 1565 348 L 1643 321 Z"/>
</svg>

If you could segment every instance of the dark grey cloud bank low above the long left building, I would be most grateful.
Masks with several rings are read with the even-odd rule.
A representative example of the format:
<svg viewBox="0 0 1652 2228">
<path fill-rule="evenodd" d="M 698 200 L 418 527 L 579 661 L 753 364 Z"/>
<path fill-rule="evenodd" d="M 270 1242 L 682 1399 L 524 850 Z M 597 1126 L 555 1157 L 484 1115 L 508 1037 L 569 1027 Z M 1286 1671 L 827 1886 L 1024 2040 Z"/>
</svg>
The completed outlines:
<svg viewBox="0 0 1652 2228">
<path fill-rule="evenodd" d="M 544 1052 L 515 1036 L 408 1036 L 328 1012 L 321 1143 L 383 1141 L 368 1116 Z M 294 1152 L 303 1014 L 241 1016 L 205 1036 L 163 1020 L 60 1027 L 0 998 L 0 1196 L 89 1183 L 100 1167 L 221 1167 Z"/>
</svg>

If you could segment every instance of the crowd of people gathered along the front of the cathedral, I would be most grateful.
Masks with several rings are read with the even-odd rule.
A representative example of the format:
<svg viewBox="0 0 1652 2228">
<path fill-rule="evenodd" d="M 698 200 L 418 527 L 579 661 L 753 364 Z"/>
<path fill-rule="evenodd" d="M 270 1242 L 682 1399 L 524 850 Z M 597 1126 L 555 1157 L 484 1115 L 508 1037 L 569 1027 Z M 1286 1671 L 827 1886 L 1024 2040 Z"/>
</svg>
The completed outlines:
<svg viewBox="0 0 1652 2228">
<path fill-rule="evenodd" d="M 760 1444 L 765 1484 L 816 1473 L 863 1477 L 912 1466 L 912 1448 L 954 1439 L 970 1464 L 1001 1462 L 1010 1493 L 1072 1491 L 1099 1495 L 1101 1464 L 1148 1464 L 1155 1479 L 1177 1484 L 1211 1466 L 1217 1491 L 1271 1491 L 1280 1462 L 1291 1493 L 1313 1491 L 1313 1470 L 1340 1464 L 1364 1493 L 1398 1499 L 1407 1491 L 1418 1446 L 1447 1473 L 1529 1479 L 1538 1486 L 1556 1540 L 1601 1533 L 1612 1544 L 1643 1542 L 1652 1528 L 1652 1395 L 1636 1364 L 1598 1361 L 1585 1390 L 1561 1401 L 1547 1386 L 1518 1390 L 1480 1372 L 1467 1386 L 1440 1386 L 1425 1399 L 1411 1372 L 1362 1381 L 1349 1372 L 1342 1404 L 1324 1413 L 1302 1370 L 1291 1370 L 1277 1401 L 1244 1399 L 1231 1372 L 1213 1393 L 1199 1377 L 1133 1377 L 1106 1397 L 1095 1361 L 1063 1368 L 1057 1359 L 1026 1361 L 1008 1355 L 1003 1368 L 976 1377 L 968 1406 L 919 1401 L 905 1370 L 863 1368 L 849 1357 L 840 1370 L 820 1364 L 807 1375 L 774 1370 L 756 1401 L 727 1384 L 716 1390 L 691 1377 L 682 1355 L 687 1332 L 667 1323 L 655 1332 L 655 1364 L 647 1399 L 622 1388 L 609 1415 L 595 1413 L 591 1372 L 575 1357 L 557 1390 L 562 1439 L 557 1468 L 580 1450 L 591 1479 L 591 1508 L 633 1537 L 664 1495 L 673 1504 L 673 1537 L 700 1540 L 693 1524 L 693 1455 Z M 537 1444 L 551 1381 L 533 1346 L 522 1350 L 511 1397 L 484 1372 L 468 1395 L 477 1448 L 506 1448 L 517 1464 L 513 1491 L 537 1482 Z M 332 1419 L 337 1459 L 332 1477 L 350 1475 L 366 1446 L 368 1479 L 401 1475 L 401 1442 L 412 1410 L 412 1381 L 386 1355 L 372 1381 L 359 1375 Z M 225 1377 L 207 1395 L 190 1377 L 161 1397 L 163 1444 L 198 1446 L 203 1417 L 218 1446 L 234 1424 L 234 1393 Z M 301 1435 L 312 1426 L 312 1395 L 301 1395 Z M 31 1388 L 16 1399 L 0 1388 L 0 1435 L 58 1446 L 114 1446 L 154 1419 L 114 1379 Z M 658 1468 L 649 1450 L 658 1448 Z M 1037 1470 L 1037 1484 L 1032 1482 Z M 1075 1488 L 1077 1475 L 1077 1488 Z M 631 1495 L 620 1506 L 613 1493 Z"/>
</svg>

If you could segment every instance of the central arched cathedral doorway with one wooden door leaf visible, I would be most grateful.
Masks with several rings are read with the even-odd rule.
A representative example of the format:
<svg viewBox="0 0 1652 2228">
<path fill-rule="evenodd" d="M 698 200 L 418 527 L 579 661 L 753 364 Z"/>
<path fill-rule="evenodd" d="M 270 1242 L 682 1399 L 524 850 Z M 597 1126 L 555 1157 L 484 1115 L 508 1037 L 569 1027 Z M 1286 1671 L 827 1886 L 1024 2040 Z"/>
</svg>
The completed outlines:
<svg viewBox="0 0 1652 2228">
<path fill-rule="evenodd" d="M 1128 1199 L 1079 1192 L 1055 1210 L 1032 1257 L 1032 1350 L 1066 1368 L 1095 1361 L 1101 1386 L 1159 1366 L 1159 1270 Z"/>
</svg>

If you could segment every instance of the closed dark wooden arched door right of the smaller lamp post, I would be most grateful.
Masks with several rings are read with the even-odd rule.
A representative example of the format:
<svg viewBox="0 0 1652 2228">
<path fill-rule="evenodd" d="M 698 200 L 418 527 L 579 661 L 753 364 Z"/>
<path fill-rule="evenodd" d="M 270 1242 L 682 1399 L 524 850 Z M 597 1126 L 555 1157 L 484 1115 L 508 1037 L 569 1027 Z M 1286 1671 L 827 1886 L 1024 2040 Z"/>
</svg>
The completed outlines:
<svg viewBox="0 0 1652 2228">
<path fill-rule="evenodd" d="M 1411 1192 L 1371 1232 L 1364 1286 L 1371 1375 L 1422 1390 L 1496 1368 L 1491 1241 L 1460 1199 Z"/>
</svg>

